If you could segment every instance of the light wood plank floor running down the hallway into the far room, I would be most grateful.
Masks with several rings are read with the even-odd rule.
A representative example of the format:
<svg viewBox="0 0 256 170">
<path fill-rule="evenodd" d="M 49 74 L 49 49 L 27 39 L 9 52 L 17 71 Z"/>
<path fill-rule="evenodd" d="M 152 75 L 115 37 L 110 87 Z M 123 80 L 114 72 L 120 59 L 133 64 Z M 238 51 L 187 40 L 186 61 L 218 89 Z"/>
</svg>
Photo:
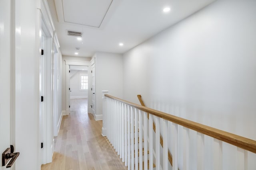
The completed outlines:
<svg viewBox="0 0 256 170">
<path fill-rule="evenodd" d="M 102 121 L 87 113 L 87 99 L 71 99 L 70 115 L 63 116 L 52 163 L 41 170 L 127 170 L 106 137 Z"/>
</svg>

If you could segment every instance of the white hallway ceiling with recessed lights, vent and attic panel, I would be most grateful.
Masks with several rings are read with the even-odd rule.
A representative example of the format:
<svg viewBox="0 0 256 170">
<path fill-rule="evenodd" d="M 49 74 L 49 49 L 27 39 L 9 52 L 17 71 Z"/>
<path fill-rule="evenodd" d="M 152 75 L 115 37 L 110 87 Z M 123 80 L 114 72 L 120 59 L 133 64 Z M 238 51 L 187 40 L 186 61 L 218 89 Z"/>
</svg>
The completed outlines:
<svg viewBox="0 0 256 170">
<path fill-rule="evenodd" d="M 92 57 L 96 51 L 124 53 L 214 1 L 48 0 L 48 4 L 62 55 Z M 167 6 L 171 10 L 164 13 Z M 81 31 L 82 41 L 68 36 L 67 30 Z"/>
</svg>

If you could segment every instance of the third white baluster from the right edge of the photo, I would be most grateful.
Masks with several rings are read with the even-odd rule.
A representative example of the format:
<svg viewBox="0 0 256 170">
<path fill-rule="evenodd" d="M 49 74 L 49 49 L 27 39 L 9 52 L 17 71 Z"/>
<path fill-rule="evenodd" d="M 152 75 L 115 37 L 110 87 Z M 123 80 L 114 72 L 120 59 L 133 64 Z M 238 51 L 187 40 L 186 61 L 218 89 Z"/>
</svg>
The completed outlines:
<svg viewBox="0 0 256 170">
<path fill-rule="evenodd" d="M 204 134 L 197 132 L 197 169 L 204 170 Z"/>
</svg>

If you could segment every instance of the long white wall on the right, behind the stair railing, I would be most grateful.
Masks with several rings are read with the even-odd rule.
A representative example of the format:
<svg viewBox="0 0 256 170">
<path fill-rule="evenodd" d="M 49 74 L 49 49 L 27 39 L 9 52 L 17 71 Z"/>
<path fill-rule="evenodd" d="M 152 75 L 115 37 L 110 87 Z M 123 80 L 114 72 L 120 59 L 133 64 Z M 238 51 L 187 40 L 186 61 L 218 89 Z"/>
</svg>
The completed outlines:
<svg viewBox="0 0 256 170">
<path fill-rule="evenodd" d="M 146 106 L 256 140 L 255 9 L 216 1 L 125 53 L 124 99 L 142 94 Z M 235 169 L 236 148 L 226 151 L 223 169 Z"/>
</svg>

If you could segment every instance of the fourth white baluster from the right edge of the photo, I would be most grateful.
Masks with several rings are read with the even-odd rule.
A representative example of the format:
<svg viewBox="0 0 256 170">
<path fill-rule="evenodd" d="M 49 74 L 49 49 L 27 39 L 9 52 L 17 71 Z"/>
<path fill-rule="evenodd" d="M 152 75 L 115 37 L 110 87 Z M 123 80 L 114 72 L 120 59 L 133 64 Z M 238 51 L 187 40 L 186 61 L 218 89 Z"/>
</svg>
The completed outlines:
<svg viewBox="0 0 256 170">
<path fill-rule="evenodd" d="M 183 168 L 189 170 L 189 129 L 183 127 Z"/>
</svg>

